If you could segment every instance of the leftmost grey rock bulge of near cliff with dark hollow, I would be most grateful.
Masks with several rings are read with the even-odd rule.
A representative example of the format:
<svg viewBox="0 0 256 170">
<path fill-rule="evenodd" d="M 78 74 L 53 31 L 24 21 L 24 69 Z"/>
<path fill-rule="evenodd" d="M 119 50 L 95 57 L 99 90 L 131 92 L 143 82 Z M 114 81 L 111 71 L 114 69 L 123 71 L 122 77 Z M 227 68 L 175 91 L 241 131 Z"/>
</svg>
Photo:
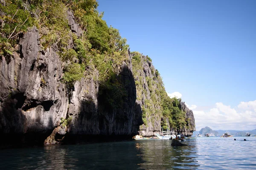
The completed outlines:
<svg viewBox="0 0 256 170">
<path fill-rule="evenodd" d="M 38 38 L 33 27 L 20 40 L 20 54 L 0 60 L 0 133 L 24 143 L 48 136 L 60 118 L 66 117 L 68 106 L 56 48 L 41 51 Z"/>
</svg>

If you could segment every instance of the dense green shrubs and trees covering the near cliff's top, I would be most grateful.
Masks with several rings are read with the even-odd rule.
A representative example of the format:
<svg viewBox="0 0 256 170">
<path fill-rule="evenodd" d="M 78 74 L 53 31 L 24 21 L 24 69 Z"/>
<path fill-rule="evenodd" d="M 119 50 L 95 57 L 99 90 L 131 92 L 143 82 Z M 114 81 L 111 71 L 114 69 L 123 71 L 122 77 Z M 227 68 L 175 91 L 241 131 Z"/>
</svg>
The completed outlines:
<svg viewBox="0 0 256 170">
<path fill-rule="evenodd" d="M 97 6 L 96 0 L 6 0 L 0 4 L 0 10 L 5 13 L 0 16 L 0 56 L 18 52 L 20 36 L 34 25 L 40 34 L 42 50 L 54 44 L 58 46 L 64 62 L 63 82 L 68 88 L 72 89 L 74 82 L 96 74 L 92 72 L 97 70 L 96 79 L 103 84 L 99 93 L 113 94 L 118 102 L 111 102 L 112 98 L 108 97 L 109 104 L 118 106 L 125 94 L 115 75 L 128 59 L 128 45 L 117 29 L 108 27 L 102 20 L 103 14 L 97 11 Z M 80 32 L 70 31 L 68 11 Z"/>
</svg>

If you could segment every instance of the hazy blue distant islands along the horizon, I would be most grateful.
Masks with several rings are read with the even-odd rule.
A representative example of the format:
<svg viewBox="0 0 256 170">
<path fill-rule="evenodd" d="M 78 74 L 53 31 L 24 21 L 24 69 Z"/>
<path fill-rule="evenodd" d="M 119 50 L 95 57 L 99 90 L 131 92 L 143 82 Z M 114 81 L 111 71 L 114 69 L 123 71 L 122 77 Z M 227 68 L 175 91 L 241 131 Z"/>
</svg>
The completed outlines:
<svg viewBox="0 0 256 170">
<path fill-rule="evenodd" d="M 255 135 L 256 134 L 256 129 L 254 130 L 212 130 L 210 127 L 206 126 L 204 128 L 201 128 L 200 131 L 194 131 L 193 135 L 196 134 L 202 134 L 205 135 L 206 133 L 215 135 L 215 136 L 220 136 L 223 133 L 225 133 L 226 131 L 230 132 L 231 135 L 236 135 L 236 136 L 244 136 L 246 135 L 246 132 L 248 132 L 251 135 Z"/>
</svg>

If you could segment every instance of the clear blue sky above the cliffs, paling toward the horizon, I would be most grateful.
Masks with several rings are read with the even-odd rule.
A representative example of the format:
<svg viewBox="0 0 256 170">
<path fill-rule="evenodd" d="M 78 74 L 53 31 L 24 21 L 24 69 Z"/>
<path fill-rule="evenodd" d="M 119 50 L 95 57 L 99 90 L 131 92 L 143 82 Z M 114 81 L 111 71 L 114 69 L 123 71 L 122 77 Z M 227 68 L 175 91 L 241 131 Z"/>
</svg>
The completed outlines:
<svg viewBox="0 0 256 170">
<path fill-rule="evenodd" d="M 219 119 L 228 119 L 230 113 L 217 103 L 235 109 L 242 116 L 239 119 L 248 115 L 256 119 L 256 0 L 98 2 L 103 19 L 119 29 L 131 51 L 151 57 L 166 91 L 179 92 L 189 106 L 196 106 L 198 121 L 209 116 L 211 109 L 226 115 Z M 247 103 L 244 110 L 239 108 L 241 102 Z M 196 119 L 197 129 L 204 126 L 202 121 Z M 211 121 L 215 128 L 234 124 Z M 233 129 L 256 128 L 256 123 L 242 127 L 243 123 L 247 122 Z"/>
</svg>

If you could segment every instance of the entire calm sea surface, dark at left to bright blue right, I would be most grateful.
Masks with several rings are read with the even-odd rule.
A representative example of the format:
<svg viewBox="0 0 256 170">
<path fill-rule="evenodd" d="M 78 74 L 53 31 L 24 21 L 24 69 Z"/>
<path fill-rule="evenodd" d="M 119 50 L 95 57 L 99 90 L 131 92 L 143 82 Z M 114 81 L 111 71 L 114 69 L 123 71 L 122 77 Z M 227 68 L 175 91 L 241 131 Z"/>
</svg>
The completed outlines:
<svg viewBox="0 0 256 170">
<path fill-rule="evenodd" d="M 256 169 L 254 136 L 201 137 L 185 143 L 172 147 L 171 140 L 140 140 L 5 149 L 0 150 L 0 169 Z"/>
</svg>

